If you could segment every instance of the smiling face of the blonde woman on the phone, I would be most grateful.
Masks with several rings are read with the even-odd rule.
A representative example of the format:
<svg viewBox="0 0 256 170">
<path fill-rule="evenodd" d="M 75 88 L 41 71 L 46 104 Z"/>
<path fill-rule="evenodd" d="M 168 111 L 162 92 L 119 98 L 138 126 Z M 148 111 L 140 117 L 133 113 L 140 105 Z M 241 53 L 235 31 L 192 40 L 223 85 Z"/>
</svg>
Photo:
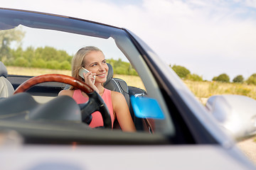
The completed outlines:
<svg viewBox="0 0 256 170">
<path fill-rule="evenodd" d="M 108 67 L 105 56 L 100 51 L 91 51 L 83 59 L 85 69 L 96 74 L 95 83 L 107 81 Z"/>
</svg>

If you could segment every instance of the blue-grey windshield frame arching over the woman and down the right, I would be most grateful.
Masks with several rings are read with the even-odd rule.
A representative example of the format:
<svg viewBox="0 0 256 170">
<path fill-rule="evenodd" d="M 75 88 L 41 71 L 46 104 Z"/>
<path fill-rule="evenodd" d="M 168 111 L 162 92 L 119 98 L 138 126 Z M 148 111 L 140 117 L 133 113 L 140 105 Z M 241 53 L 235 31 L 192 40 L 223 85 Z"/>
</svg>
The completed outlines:
<svg viewBox="0 0 256 170">
<path fill-rule="evenodd" d="M 31 11 L 11 11 L 4 8 L 0 9 L 0 21 L 4 21 L 0 24 L 0 29 L 2 30 L 22 25 L 30 28 L 59 30 L 67 33 L 88 35 L 97 38 L 113 38 L 119 50 L 124 53 L 127 60 L 132 63 L 134 69 L 136 69 L 139 76 L 142 77 L 148 96 L 156 98 L 156 100 L 159 101 L 159 104 L 166 115 L 165 123 L 163 123 L 162 126 L 159 126 L 159 130 L 156 130 L 155 132 L 164 132 L 168 136 L 173 136 L 175 134 L 174 126 L 171 123 L 166 103 L 164 102 L 163 96 L 161 96 L 161 90 L 159 89 L 156 79 L 153 74 L 151 74 L 149 67 L 143 60 L 142 54 L 132 43 L 129 34 L 127 34 L 125 29 L 78 18 L 56 16 Z"/>
</svg>

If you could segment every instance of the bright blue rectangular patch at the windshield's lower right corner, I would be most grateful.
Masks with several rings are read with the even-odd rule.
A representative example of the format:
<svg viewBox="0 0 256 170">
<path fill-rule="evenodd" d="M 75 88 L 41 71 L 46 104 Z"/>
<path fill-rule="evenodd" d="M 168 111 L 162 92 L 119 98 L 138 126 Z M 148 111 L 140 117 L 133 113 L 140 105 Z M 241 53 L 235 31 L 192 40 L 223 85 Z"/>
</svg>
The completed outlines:
<svg viewBox="0 0 256 170">
<path fill-rule="evenodd" d="M 164 119 L 164 113 L 154 98 L 131 96 L 131 103 L 138 118 Z"/>
</svg>

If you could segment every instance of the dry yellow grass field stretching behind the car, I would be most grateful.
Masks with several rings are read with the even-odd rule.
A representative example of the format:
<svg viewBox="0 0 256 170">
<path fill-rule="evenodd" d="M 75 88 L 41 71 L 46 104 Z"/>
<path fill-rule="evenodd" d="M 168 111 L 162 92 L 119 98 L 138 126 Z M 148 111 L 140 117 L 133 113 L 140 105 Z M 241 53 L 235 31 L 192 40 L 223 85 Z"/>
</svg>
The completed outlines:
<svg viewBox="0 0 256 170">
<path fill-rule="evenodd" d="M 7 67 L 9 74 L 29 75 L 37 76 L 40 74 L 65 74 L 71 75 L 70 70 L 58 70 L 58 69 L 37 69 L 37 68 L 25 68 L 25 67 Z M 136 76 L 129 75 L 114 75 L 114 77 L 123 79 L 129 86 L 137 86 L 141 89 L 145 89 L 142 79 Z M 247 84 L 233 84 L 233 83 L 220 83 L 216 81 L 183 81 L 188 89 L 191 89 L 196 97 L 208 98 L 218 94 L 239 94 L 256 99 L 256 86 Z"/>
</svg>

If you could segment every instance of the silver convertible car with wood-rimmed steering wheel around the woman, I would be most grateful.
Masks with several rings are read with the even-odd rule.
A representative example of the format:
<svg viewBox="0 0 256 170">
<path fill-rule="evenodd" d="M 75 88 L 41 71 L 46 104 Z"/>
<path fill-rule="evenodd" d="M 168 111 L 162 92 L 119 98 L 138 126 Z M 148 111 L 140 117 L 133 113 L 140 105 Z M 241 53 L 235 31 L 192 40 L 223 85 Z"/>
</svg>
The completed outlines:
<svg viewBox="0 0 256 170">
<path fill-rule="evenodd" d="M 0 8 L 0 40 L 0 169 L 255 169 L 208 108 L 130 30 Z M 87 45 L 105 53 L 104 86 L 124 95 L 137 132 L 122 132 L 118 123 L 112 129 L 100 95 L 70 77 L 69 56 Z M 114 74 L 125 68 L 113 61 L 129 63 L 126 71 L 143 86 Z M 89 101 L 58 96 L 70 85 Z M 88 126 L 94 111 L 103 127 Z"/>
</svg>

